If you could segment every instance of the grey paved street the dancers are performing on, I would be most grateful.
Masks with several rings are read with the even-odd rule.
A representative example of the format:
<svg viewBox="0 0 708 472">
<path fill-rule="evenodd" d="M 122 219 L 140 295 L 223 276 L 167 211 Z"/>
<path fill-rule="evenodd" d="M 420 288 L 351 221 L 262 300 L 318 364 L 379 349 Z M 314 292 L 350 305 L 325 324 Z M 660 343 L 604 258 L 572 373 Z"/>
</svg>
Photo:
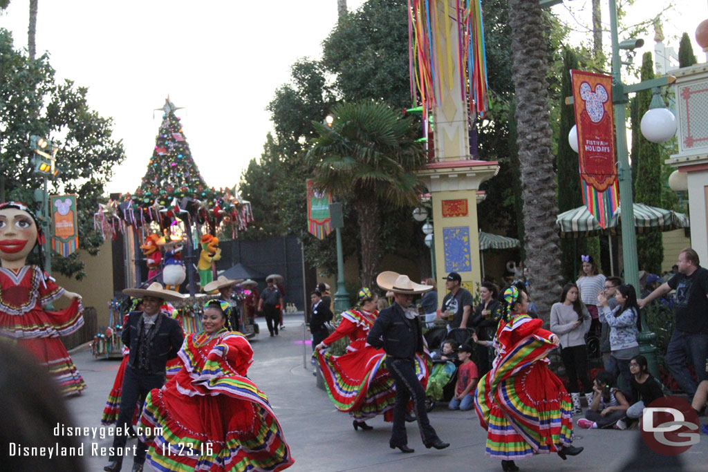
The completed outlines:
<svg viewBox="0 0 708 472">
<path fill-rule="evenodd" d="M 261 335 L 251 343 L 254 362 L 249 377 L 268 395 L 285 431 L 295 458 L 295 464 L 288 471 L 501 471 L 499 461 L 484 456 L 486 432 L 479 427 L 474 411 L 453 412 L 447 410 L 446 405 L 438 404 L 430 413 L 430 422 L 440 438 L 451 444 L 442 451 L 423 447 L 415 423 L 408 424 L 409 446 L 416 449 L 415 454 L 389 449 L 391 425 L 384 423 L 382 417 L 368 422 L 374 430 L 355 432 L 348 415 L 336 411 L 326 392 L 316 388 L 309 364 L 312 352 L 309 343 L 304 346 L 308 362 L 306 368 L 303 367 L 302 315 L 286 316 L 287 328 L 275 338 L 268 337 L 262 319 L 260 325 Z M 72 357 L 88 384 L 81 396 L 68 401 L 74 425 L 98 427 L 120 361 L 93 359 L 86 347 L 72 352 Z M 85 449 L 90 450 L 91 443 L 110 447 L 111 442 L 112 438 L 89 438 Z M 585 447 L 585 451 L 567 461 L 552 454 L 517 461 L 517 464 L 522 471 L 708 470 L 708 436 L 705 435 L 701 436 L 700 444 L 678 458 L 653 454 L 644 447 L 637 430 L 578 428 L 574 444 Z M 107 458 L 100 456 L 86 459 L 91 472 L 103 471 L 108 463 Z M 123 470 L 130 471 L 131 467 L 131 459 L 126 459 Z"/>
</svg>

